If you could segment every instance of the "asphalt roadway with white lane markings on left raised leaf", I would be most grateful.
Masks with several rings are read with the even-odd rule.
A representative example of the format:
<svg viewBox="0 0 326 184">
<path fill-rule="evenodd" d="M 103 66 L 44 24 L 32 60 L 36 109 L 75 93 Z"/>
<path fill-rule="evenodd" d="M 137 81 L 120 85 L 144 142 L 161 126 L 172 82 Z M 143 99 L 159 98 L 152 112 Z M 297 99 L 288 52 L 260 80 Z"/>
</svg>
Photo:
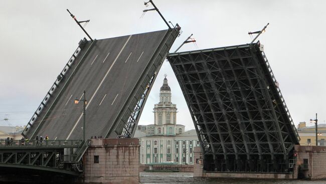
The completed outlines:
<svg viewBox="0 0 326 184">
<path fill-rule="evenodd" d="M 69 83 L 64 81 L 67 86 L 55 107 L 46 118 L 44 114 L 49 109 L 43 110 L 35 122 L 40 125 L 39 129 L 33 135 L 28 133 L 27 137 L 82 139 L 83 103 L 74 104 L 74 100 L 83 99 L 84 90 L 88 101 L 86 138 L 104 136 L 166 33 L 167 30 L 162 30 L 97 40 Z M 90 44 L 89 41 L 78 55 L 75 65 Z M 60 84 L 59 88 L 62 86 Z"/>
</svg>

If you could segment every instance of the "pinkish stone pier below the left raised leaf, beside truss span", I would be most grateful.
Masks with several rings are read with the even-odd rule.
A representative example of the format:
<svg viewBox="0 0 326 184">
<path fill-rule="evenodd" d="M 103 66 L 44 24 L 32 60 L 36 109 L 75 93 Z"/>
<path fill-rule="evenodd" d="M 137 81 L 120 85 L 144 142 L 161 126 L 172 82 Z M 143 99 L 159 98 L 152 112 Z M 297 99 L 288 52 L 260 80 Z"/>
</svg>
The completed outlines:
<svg viewBox="0 0 326 184">
<path fill-rule="evenodd" d="M 84 183 L 139 183 L 139 140 L 92 139 L 84 154 Z"/>
</svg>

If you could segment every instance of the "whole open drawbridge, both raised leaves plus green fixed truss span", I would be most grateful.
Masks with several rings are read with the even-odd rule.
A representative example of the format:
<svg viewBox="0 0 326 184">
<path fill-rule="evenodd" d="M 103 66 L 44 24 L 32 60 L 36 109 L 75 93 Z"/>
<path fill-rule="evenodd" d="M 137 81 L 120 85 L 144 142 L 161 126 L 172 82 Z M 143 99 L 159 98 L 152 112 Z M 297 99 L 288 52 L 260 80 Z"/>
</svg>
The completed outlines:
<svg viewBox="0 0 326 184">
<path fill-rule="evenodd" d="M 205 170 L 291 171 L 299 136 L 260 43 L 169 54 L 179 34 L 177 25 L 81 40 L 22 133 L 30 140 L 43 135 L 78 144 L 50 146 L 46 153 L 35 151 L 37 147 L 2 149 L 0 164 L 50 165 L 54 171 L 65 165 L 80 172 L 88 147 L 88 141 L 81 141 L 83 130 L 86 139 L 133 137 L 151 86 L 168 58 L 201 141 Z M 87 99 L 86 127 L 83 104 L 74 104 L 75 99 Z M 69 159 L 56 157 L 65 157 L 67 149 Z"/>
</svg>

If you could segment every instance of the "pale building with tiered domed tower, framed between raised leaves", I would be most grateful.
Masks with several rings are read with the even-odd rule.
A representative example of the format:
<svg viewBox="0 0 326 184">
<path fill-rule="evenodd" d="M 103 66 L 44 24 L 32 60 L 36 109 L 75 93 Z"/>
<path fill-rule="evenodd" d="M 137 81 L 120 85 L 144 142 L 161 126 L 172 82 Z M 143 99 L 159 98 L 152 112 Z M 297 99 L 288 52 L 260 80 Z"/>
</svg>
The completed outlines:
<svg viewBox="0 0 326 184">
<path fill-rule="evenodd" d="M 166 76 L 167 77 L 167 76 Z M 200 146 L 195 130 L 185 132 L 177 124 L 177 105 L 171 102 L 171 88 L 164 78 L 159 102 L 154 105 L 154 124 L 138 125 L 135 136 L 140 142 L 140 163 L 193 164 L 194 147 Z"/>
</svg>

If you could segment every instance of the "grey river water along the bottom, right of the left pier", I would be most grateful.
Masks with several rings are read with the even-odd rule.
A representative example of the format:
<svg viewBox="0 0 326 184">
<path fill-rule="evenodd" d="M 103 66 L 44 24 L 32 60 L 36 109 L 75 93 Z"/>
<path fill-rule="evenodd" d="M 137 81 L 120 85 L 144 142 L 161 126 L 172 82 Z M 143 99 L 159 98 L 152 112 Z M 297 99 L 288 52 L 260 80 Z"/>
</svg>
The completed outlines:
<svg viewBox="0 0 326 184">
<path fill-rule="evenodd" d="M 192 172 L 140 172 L 142 184 L 326 184 L 326 180 L 217 179 L 194 178 Z"/>
</svg>

